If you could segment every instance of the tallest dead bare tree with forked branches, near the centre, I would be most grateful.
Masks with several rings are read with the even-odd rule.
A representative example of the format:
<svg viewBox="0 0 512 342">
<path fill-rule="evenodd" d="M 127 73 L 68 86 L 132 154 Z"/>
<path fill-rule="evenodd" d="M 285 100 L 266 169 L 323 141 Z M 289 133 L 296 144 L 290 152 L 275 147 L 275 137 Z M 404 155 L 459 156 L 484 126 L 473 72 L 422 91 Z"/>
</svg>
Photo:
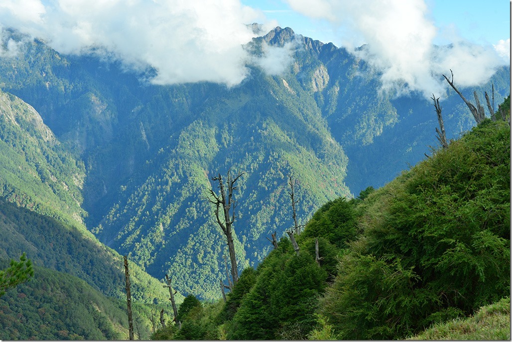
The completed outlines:
<svg viewBox="0 0 512 342">
<path fill-rule="evenodd" d="M 234 211 L 237 207 L 237 202 L 233 200 L 233 191 L 238 187 L 234 186 L 234 183 L 243 175 L 243 172 L 239 172 L 236 177 L 231 176 L 231 169 L 227 172 L 226 184 L 224 184 L 224 180 L 222 179 L 221 174 L 216 177 L 212 177 L 211 180 L 214 182 L 219 182 L 220 194 L 217 194 L 214 189 L 209 189 L 210 197 L 208 201 L 210 203 L 215 204 L 215 218 L 217 219 L 217 223 L 222 229 L 224 236 L 227 240 L 227 247 L 229 251 L 229 259 L 231 261 L 231 277 L 233 280 L 233 285 L 236 285 L 238 282 L 238 264 L 237 258 L 234 253 L 234 243 L 233 243 L 233 222 L 236 216 L 234 215 Z M 227 192 L 225 185 L 227 185 Z M 221 210 L 222 207 L 222 217 Z"/>
</svg>

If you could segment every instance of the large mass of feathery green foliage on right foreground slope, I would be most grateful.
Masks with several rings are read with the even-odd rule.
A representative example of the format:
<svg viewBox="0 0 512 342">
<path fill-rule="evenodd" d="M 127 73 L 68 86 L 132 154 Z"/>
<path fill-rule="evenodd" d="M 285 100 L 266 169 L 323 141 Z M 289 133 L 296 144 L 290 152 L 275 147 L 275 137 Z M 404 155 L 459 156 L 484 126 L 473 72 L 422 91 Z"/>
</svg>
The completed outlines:
<svg viewBox="0 0 512 342">
<path fill-rule="evenodd" d="M 403 338 L 510 291 L 510 130 L 484 121 L 375 191 L 320 312 L 341 338 Z"/>
</svg>

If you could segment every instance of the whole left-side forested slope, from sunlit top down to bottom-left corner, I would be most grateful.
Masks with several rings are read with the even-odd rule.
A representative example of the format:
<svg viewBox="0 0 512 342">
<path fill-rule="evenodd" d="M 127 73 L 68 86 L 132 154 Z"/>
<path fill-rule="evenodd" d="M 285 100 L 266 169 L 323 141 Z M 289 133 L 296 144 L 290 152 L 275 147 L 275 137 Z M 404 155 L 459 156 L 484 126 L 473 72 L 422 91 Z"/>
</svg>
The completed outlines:
<svg viewBox="0 0 512 342">
<path fill-rule="evenodd" d="M 83 224 L 83 163 L 31 106 L 1 91 L 0 137 L 0 259 L 26 253 L 36 267 L 32 281 L 0 298 L 0 338 L 119 339 L 125 334 L 123 260 Z M 131 281 L 136 302 L 169 309 L 162 283 L 134 263 Z M 139 317 L 146 337 L 148 317 Z"/>
</svg>

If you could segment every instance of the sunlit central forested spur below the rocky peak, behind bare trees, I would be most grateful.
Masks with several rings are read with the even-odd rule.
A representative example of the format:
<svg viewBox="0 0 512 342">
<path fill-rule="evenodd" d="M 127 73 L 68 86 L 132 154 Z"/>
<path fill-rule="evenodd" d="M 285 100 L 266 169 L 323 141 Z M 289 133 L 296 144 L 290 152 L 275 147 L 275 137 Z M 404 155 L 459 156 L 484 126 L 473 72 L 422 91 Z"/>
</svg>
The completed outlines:
<svg viewBox="0 0 512 342">
<path fill-rule="evenodd" d="M 99 239 L 122 252 L 132 251 L 152 274 L 169 269 L 187 293 L 212 284 L 208 296 L 215 298 L 221 254 L 226 251 L 214 208 L 205 200 L 209 177 L 225 175 L 226 164 L 246 172 L 236 194 L 242 265 L 246 259 L 247 264 L 261 260 L 268 250 L 265 238 L 291 224 L 286 175 L 300 181 L 302 220 L 316 203 L 348 195 L 348 188 L 336 181 L 345 176 L 343 150 L 329 139 L 319 113 L 316 122 L 302 114 L 301 107 L 311 107 L 306 113 L 315 111 L 312 103 L 293 101 L 282 84 L 281 78 L 269 78 L 249 94 L 233 90 L 235 98 L 244 99 L 240 102 L 219 100 L 215 109 L 204 109 L 200 118 L 172 137 L 162 157 L 149 162 L 156 172 L 142 185 L 123 187 L 129 197 L 101 221 Z M 279 100 L 264 103 L 268 93 Z M 301 138 L 298 132 L 308 136 Z M 318 149 L 322 154 L 315 152 Z"/>
</svg>

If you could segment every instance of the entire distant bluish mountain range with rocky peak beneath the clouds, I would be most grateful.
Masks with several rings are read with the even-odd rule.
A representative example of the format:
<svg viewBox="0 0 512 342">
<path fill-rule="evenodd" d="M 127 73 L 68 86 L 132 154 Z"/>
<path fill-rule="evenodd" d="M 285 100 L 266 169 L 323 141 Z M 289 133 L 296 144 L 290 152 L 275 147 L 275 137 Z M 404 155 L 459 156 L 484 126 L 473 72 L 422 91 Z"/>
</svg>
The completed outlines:
<svg viewBox="0 0 512 342">
<path fill-rule="evenodd" d="M 234 224 L 243 268 L 268 253 L 271 233 L 292 226 L 288 174 L 298 182 L 305 222 L 329 200 L 390 181 L 435 144 L 431 103 L 379 94 L 379 75 L 345 49 L 289 28 L 246 48 L 262 54 L 265 44 L 294 44 L 289 68 L 270 76 L 252 66 L 239 86 L 226 88 L 155 86 L 144 81 L 154 70 L 136 74 L 119 62 L 64 56 L 28 41 L 22 55 L 0 60 L 0 87 L 31 104 L 75 160 L 82 178 L 73 187 L 73 173 L 66 174 L 63 194 L 75 194 L 80 205 L 62 195 L 69 208 L 56 211 L 83 220 L 107 246 L 132 252 L 157 279 L 168 273 L 185 294 L 218 298 L 226 248 L 204 199 L 211 176 L 246 173 Z M 493 76 L 498 103 L 509 93 L 509 75 L 503 68 Z M 473 125 L 458 97 L 443 102 L 443 116 L 449 138 Z"/>
</svg>

